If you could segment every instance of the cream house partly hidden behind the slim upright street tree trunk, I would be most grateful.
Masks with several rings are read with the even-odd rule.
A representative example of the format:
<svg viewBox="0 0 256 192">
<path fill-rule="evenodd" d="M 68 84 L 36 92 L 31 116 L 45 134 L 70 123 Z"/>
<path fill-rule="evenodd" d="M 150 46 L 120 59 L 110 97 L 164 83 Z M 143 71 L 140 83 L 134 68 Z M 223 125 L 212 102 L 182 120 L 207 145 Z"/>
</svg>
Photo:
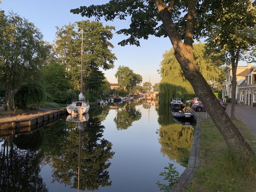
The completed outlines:
<svg viewBox="0 0 256 192">
<path fill-rule="evenodd" d="M 236 69 L 236 99 L 239 100 L 239 92 L 238 86 L 245 80 L 245 77 L 251 72 L 256 66 L 252 66 L 251 62 L 247 62 L 247 66 L 238 66 Z M 222 82 L 222 98 L 227 95 L 227 97 L 231 98 L 231 80 L 232 80 L 232 68 L 230 66 L 226 66 L 223 71 L 226 74 L 226 80 Z"/>
</svg>

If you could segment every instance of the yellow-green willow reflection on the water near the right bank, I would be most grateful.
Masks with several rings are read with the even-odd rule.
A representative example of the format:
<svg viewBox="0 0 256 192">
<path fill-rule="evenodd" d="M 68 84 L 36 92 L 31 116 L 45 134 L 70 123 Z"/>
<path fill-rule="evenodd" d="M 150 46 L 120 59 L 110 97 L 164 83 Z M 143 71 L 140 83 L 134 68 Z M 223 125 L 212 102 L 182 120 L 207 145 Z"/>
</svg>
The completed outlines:
<svg viewBox="0 0 256 192">
<path fill-rule="evenodd" d="M 193 127 L 176 123 L 172 119 L 169 100 L 164 98 L 159 102 L 158 123 L 161 125 L 159 129 L 161 153 L 171 160 L 186 165 L 193 140 Z"/>
</svg>

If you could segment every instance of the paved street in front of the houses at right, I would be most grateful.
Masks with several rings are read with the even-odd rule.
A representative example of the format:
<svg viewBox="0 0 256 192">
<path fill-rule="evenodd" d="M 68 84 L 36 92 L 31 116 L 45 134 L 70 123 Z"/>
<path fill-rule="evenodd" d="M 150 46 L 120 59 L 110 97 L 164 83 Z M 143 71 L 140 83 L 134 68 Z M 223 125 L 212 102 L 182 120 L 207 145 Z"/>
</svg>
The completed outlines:
<svg viewBox="0 0 256 192">
<path fill-rule="evenodd" d="M 231 104 L 228 104 L 226 112 L 231 114 Z M 256 138 L 256 108 L 236 105 L 236 119 L 242 121 Z"/>
</svg>

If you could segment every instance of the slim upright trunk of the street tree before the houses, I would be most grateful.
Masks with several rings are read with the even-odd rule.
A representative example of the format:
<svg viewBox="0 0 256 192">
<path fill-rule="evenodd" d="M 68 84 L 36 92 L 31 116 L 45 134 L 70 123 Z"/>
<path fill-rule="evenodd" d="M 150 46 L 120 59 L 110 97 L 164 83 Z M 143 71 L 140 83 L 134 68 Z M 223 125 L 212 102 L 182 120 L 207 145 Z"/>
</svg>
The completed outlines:
<svg viewBox="0 0 256 192">
<path fill-rule="evenodd" d="M 234 55 L 234 52 L 231 53 L 231 65 L 232 65 L 232 80 L 231 80 L 231 99 L 232 99 L 232 104 L 231 104 L 231 115 L 230 118 L 234 119 L 235 118 L 235 113 L 236 113 L 236 69 L 238 65 L 238 60 L 239 60 L 239 54 L 240 54 L 240 49 L 237 50 L 236 55 Z"/>
</svg>

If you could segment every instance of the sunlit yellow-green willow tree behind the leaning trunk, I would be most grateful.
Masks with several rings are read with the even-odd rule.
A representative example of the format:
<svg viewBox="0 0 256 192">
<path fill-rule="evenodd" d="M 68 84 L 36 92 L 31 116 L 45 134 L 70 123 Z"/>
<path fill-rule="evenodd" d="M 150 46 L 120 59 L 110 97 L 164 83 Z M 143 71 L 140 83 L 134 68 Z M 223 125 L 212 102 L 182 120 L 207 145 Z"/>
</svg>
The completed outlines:
<svg viewBox="0 0 256 192">
<path fill-rule="evenodd" d="M 195 65 L 210 84 L 217 82 L 221 69 L 213 65 L 210 57 L 204 53 L 205 44 L 198 43 L 193 46 Z M 172 98 L 191 99 L 195 92 L 191 84 L 185 79 L 181 67 L 174 56 L 174 49 L 163 54 L 160 69 L 162 80 L 160 82 L 159 102 L 168 103 Z"/>
</svg>

